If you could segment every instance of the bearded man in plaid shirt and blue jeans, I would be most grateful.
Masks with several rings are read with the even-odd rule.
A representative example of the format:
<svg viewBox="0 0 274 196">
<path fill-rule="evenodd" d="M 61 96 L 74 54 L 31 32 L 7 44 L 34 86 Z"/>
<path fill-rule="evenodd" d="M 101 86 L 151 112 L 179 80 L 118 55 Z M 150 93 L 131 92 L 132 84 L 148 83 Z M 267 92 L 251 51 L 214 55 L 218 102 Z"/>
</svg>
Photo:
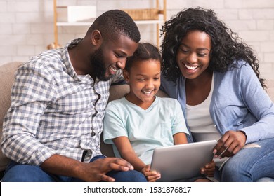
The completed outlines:
<svg viewBox="0 0 274 196">
<path fill-rule="evenodd" d="M 131 17 L 110 10 L 83 39 L 18 69 L 1 143 L 13 161 L 2 181 L 145 181 L 129 162 L 100 153 L 110 85 L 139 41 Z"/>
</svg>

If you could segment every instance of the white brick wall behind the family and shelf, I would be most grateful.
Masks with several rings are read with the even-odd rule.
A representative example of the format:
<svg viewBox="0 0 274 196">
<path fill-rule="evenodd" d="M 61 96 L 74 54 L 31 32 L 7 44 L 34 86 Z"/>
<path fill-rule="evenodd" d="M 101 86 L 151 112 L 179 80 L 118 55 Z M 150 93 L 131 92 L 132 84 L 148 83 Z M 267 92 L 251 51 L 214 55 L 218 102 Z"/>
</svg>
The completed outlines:
<svg viewBox="0 0 274 196">
<path fill-rule="evenodd" d="M 161 1 L 161 0 L 160 0 Z M 59 6 L 96 5 L 97 14 L 114 8 L 148 8 L 151 0 L 58 0 Z M 228 27 L 252 45 L 261 73 L 274 78 L 274 1 L 273 0 L 167 0 L 167 18 L 179 10 L 202 6 L 212 8 Z M 53 0 L 0 0 L 0 64 L 27 61 L 46 50 L 54 41 Z M 138 25 L 141 41 L 156 44 L 156 26 Z M 88 27 L 58 27 L 59 42 L 83 37 Z"/>
</svg>

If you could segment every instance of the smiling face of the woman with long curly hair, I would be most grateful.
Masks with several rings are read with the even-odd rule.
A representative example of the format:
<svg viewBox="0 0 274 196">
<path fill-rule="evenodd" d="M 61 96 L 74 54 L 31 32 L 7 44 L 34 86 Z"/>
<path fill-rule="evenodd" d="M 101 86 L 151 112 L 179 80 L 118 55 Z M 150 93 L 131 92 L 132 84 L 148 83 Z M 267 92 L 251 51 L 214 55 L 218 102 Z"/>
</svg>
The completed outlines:
<svg viewBox="0 0 274 196">
<path fill-rule="evenodd" d="M 176 62 L 185 78 L 195 79 L 209 66 L 211 39 L 203 31 L 190 31 L 181 40 Z"/>
</svg>

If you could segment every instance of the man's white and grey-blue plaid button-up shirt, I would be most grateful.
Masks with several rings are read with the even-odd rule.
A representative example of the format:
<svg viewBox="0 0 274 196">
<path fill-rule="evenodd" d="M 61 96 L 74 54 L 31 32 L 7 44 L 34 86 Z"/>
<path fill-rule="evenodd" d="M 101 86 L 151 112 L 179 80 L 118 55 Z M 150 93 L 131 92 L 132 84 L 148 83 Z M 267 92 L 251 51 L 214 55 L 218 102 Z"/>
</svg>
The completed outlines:
<svg viewBox="0 0 274 196">
<path fill-rule="evenodd" d="M 53 154 L 84 162 L 100 155 L 105 106 L 111 83 L 77 76 L 70 62 L 68 43 L 48 50 L 20 66 L 15 73 L 11 108 L 4 119 L 4 154 L 21 164 L 41 165 Z"/>
</svg>

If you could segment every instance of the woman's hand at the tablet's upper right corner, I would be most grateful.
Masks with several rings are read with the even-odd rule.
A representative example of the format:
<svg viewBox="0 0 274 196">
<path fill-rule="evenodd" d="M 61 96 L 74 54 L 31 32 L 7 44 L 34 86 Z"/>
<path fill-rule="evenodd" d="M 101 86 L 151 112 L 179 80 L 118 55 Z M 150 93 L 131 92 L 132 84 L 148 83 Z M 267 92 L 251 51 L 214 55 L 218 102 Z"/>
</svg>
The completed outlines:
<svg viewBox="0 0 274 196">
<path fill-rule="evenodd" d="M 247 136 L 242 131 L 227 131 L 214 147 L 215 158 L 231 157 L 244 146 Z"/>
</svg>

